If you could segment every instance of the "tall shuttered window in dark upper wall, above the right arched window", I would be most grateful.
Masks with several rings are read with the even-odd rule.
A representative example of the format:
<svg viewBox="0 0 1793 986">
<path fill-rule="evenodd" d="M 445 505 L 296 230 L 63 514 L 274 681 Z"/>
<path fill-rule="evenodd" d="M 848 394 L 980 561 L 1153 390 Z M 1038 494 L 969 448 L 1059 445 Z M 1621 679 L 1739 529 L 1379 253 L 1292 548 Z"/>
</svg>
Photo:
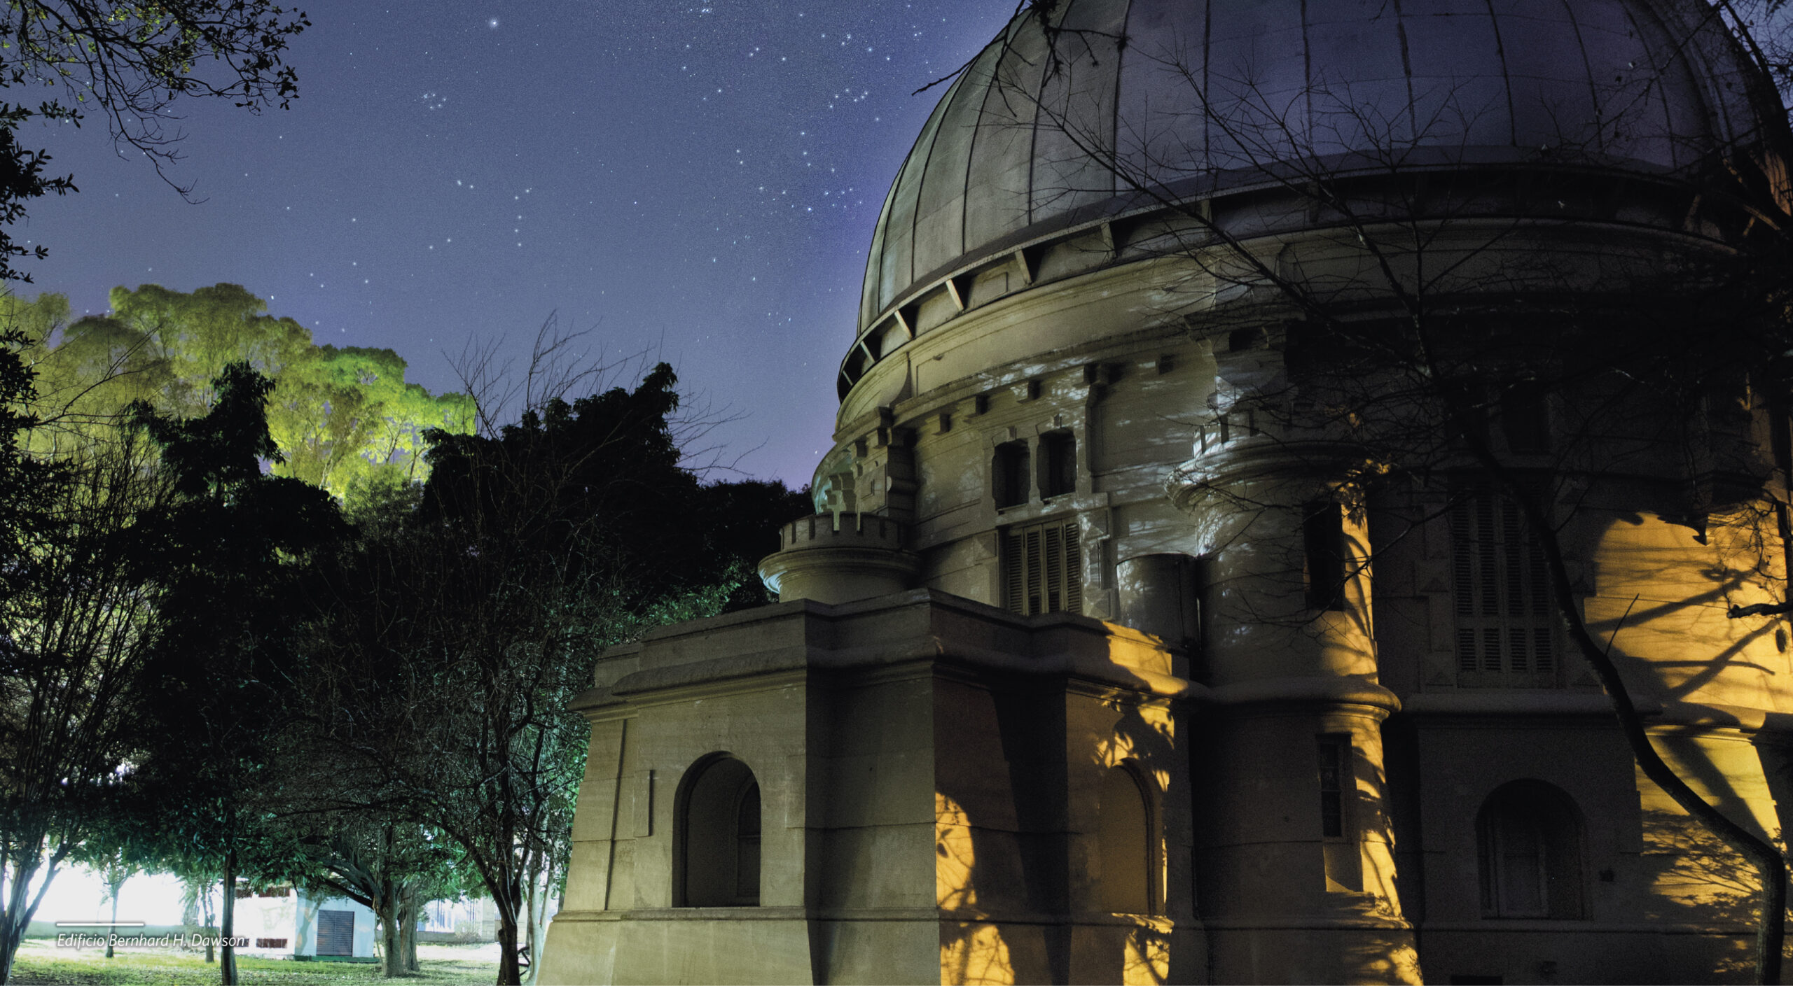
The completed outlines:
<svg viewBox="0 0 1793 986">
<path fill-rule="evenodd" d="M 1460 685 L 1556 685 L 1549 572 L 1519 504 L 1486 489 L 1458 498 L 1451 581 Z"/>
</svg>

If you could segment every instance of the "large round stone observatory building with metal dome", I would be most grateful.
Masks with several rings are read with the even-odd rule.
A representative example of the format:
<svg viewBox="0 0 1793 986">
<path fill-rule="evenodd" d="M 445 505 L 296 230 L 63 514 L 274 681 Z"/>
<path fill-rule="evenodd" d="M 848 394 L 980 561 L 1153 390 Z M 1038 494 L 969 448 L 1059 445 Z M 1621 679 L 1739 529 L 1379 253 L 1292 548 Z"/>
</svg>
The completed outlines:
<svg viewBox="0 0 1793 986">
<path fill-rule="evenodd" d="M 1780 120 L 1702 0 L 1026 5 L 884 204 L 780 602 L 597 662 L 543 979 L 1746 979 L 1501 489 L 1779 837 L 1784 620 L 1727 608 L 1786 593 L 1786 407 L 1540 368 L 1680 317 Z M 1481 396 L 1327 348 L 1415 298 Z"/>
</svg>

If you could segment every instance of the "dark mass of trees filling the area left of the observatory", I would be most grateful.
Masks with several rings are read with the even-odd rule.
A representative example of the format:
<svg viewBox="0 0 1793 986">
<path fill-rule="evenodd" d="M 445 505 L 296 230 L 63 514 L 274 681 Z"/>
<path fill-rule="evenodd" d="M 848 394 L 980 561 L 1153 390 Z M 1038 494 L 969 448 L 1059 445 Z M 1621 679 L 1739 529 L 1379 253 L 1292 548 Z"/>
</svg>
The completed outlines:
<svg viewBox="0 0 1793 986">
<path fill-rule="evenodd" d="M 316 389 L 339 353 L 163 376 L 181 400 L 156 400 L 154 373 L 120 378 L 129 359 L 47 387 L 56 348 L 27 321 L 0 337 L 0 982 L 77 862 L 113 898 L 176 873 L 186 920 L 224 936 L 249 887 L 359 900 L 387 975 L 418 968 L 423 904 L 489 896 L 498 979 L 522 981 L 565 878 L 586 746 L 567 705 L 592 658 L 766 602 L 753 563 L 805 497 L 687 468 L 665 364 L 489 434 L 420 428 L 421 463 L 332 497 L 287 466 L 294 441 L 326 457 L 303 436 L 328 428 L 282 389 Z M 276 439 L 282 414 L 299 439 Z M 351 457 L 339 475 L 368 475 Z M 217 961 L 235 982 L 233 950 Z"/>
</svg>

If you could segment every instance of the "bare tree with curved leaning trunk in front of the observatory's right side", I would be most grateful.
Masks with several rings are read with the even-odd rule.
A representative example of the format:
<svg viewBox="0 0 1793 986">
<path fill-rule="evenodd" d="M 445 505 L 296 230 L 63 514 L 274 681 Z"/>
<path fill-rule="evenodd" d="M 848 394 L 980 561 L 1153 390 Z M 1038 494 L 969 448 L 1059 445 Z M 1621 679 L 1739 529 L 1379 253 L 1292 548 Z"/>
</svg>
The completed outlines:
<svg viewBox="0 0 1793 986">
<path fill-rule="evenodd" d="M 1252 543 L 1255 574 L 1280 577 L 1280 593 L 1234 599 L 1235 615 L 1295 635 L 1325 633 L 1336 611 L 1366 629 L 1368 611 L 1345 597 L 1368 583 L 1390 541 L 1451 523 L 1485 497 L 1511 504 L 1511 543 L 1535 545 L 1547 586 L 1540 604 L 1610 697 L 1641 771 L 1755 869 L 1757 975 L 1779 981 L 1780 852 L 1664 762 L 1630 697 L 1639 667 L 1612 653 L 1626 617 L 1596 633 L 1578 586 L 1596 518 L 1648 509 L 1712 545 L 1723 561 L 1714 593 L 1786 595 L 1793 138 L 1771 82 L 1777 70 L 1786 77 L 1786 61 L 1764 54 L 1730 4 L 1676 25 L 1676 47 L 1739 56 L 1727 84 L 1777 111 L 1734 143 L 1676 147 L 1689 165 L 1615 192 L 1612 156 L 1648 156 L 1626 142 L 1694 136 L 1660 134 L 1646 118 L 1644 93 L 1664 79 L 1642 66 L 1608 93 L 1610 117 L 1556 117 L 1558 133 L 1540 149 L 1495 163 L 1474 160 L 1486 109 L 1449 84 L 1408 90 L 1391 113 L 1321 65 L 1289 82 L 1259 65 L 1140 54 L 1119 29 L 1070 22 L 1061 7 L 1017 9 L 1020 27 L 1002 45 L 1022 34 L 1044 45 L 1017 61 L 1047 82 L 983 68 L 997 95 L 977 125 L 1049 133 L 1065 177 L 1047 192 L 1065 201 L 1096 201 L 1108 183 L 1121 204 L 1092 249 L 1173 262 L 1182 278 L 1165 316 L 1226 341 L 1214 412 L 1189 423 L 1196 457 L 1169 488 L 1212 523 L 1210 550 Z M 1160 117 L 1117 131 L 1101 106 L 1063 93 L 1122 48 L 1156 63 L 1160 79 L 1142 84 Z M 974 65 L 1008 65 L 1004 56 Z M 1201 125 L 1180 127 L 1178 117 Z M 1185 140 L 1191 133 L 1198 140 Z M 1214 188 L 1252 192 L 1223 201 Z M 1562 262 L 1583 224 L 1607 221 L 1599 203 L 1623 195 L 1680 212 L 1641 221 L 1648 235 L 1605 229 L 1578 262 Z M 1763 441 L 1770 430 L 1780 437 Z M 1275 450 L 1291 475 L 1323 477 L 1325 502 L 1291 502 L 1302 482 L 1228 471 L 1237 441 Z M 1339 509 L 1329 541 L 1312 520 Z M 1372 529 L 1390 534 L 1377 541 Z M 1330 583 L 1318 574 L 1327 558 L 1341 567 Z M 1716 663 L 1736 642 L 1721 644 L 1685 642 L 1711 647 Z"/>
</svg>

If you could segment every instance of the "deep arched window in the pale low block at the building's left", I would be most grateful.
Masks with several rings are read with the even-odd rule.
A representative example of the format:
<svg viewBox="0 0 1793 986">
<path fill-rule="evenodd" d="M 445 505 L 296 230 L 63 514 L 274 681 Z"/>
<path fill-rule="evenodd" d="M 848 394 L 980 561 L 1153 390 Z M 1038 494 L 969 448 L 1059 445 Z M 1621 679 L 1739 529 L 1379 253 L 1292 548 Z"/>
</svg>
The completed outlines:
<svg viewBox="0 0 1793 986">
<path fill-rule="evenodd" d="M 758 907 L 760 783 L 746 764 L 717 757 L 687 774 L 676 843 L 680 907 Z"/>
</svg>

